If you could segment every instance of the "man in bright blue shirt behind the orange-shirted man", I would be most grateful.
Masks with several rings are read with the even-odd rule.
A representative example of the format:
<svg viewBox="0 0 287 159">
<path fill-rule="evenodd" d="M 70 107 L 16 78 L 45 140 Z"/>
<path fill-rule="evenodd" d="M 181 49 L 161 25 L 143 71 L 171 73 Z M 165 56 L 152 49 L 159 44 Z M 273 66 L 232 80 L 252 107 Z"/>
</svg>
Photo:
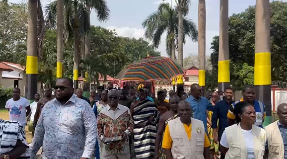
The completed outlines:
<svg viewBox="0 0 287 159">
<path fill-rule="evenodd" d="M 207 131 L 207 110 L 212 111 L 212 103 L 204 96 L 202 96 L 202 87 L 199 84 L 192 84 L 190 86 L 191 95 L 185 99 L 191 104 L 193 110 L 193 118 L 201 120 Z"/>
</svg>

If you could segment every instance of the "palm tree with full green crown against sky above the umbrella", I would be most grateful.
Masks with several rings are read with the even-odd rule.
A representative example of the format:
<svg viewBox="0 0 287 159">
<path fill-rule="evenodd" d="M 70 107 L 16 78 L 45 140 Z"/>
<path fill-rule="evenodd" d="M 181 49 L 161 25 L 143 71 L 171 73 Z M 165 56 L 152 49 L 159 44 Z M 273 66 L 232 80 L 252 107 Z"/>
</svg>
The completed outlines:
<svg viewBox="0 0 287 159">
<path fill-rule="evenodd" d="M 184 10 L 183 15 L 186 15 Z M 160 3 L 157 11 L 148 15 L 142 26 L 145 28 L 145 38 L 152 40 L 153 46 L 158 48 L 161 35 L 166 34 L 166 53 L 175 60 L 175 50 L 178 44 L 178 7 L 172 8 L 169 3 Z M 183 17 L 183 43 L 186 36 L 191 37 L 194 42 L 198 40 L 196 24 L 191 19 Z"/>
</svg>

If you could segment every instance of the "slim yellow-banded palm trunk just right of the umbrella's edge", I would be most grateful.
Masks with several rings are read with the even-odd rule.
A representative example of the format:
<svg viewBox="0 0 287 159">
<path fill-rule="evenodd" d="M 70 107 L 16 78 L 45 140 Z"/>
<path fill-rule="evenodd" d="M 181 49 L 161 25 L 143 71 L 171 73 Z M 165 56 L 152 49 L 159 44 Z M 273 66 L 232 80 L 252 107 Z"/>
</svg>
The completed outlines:
<svg viewBox="0 0 287 159">
<path fill-rule="evenodd" d="M 199 54 L 199 85 L 205 96 L 205 50 L 206 50 L 206 7 L 205 0 L 198 1 L 198 54 Z"/>
</svg>

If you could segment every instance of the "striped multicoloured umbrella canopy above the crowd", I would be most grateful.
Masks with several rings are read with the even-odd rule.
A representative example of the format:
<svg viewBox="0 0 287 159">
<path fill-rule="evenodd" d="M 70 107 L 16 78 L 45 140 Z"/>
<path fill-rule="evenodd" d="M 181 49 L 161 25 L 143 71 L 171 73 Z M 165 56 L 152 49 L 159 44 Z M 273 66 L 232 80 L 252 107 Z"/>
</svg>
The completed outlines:
<svg viewBox="0 0 287 159">
<path fill-rule="evenodd" d="M 185 73 L 186 71 L 174 60 L 159 56 L 134 62 L 122 70 L 115 79 L 120 82 L 171 80 Z"/>
</svg>

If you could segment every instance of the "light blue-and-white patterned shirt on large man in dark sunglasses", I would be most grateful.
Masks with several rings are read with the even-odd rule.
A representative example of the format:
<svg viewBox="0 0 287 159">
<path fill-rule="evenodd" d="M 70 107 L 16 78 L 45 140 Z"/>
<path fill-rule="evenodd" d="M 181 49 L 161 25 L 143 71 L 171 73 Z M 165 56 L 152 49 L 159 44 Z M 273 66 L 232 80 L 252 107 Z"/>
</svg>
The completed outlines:
<svg viewBox="0 0 287 159">
<path fill-rule="evenodd" d="M 31 143 L 31 159 L 42 145 L 42 159 L 89 159 L 96 143 L 95 125 L 91 106 L 75 94 L 64 105 L 56 98 L 47 102 Z"/>
</svg>

